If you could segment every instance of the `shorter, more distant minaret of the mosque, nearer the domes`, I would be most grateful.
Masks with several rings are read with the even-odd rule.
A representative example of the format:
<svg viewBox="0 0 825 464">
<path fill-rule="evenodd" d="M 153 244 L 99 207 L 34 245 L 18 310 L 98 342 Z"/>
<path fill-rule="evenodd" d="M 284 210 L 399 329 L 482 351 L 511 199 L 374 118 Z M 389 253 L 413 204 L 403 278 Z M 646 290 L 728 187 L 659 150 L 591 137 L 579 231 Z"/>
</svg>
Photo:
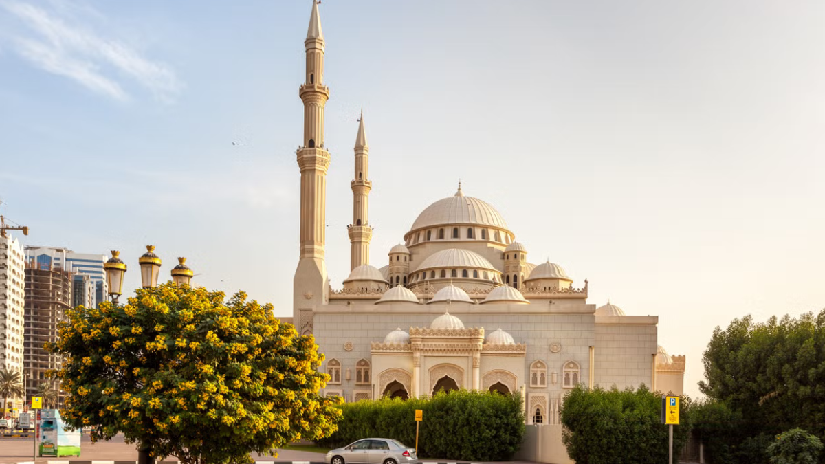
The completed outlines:
<svg viewBox="0 0 825 464">
<path fill-rule="evenodd" d="M 358 135 L 356 136 L 356 172 L 352 179 L 352 224 L 349 225 L 351 253 L 350 271 L 364 264 L 370 263 L 370 239 L 372 239 L 372 228 L 367 219 L 367 211 L 370 206 L 370 190 L 372 182 L 367 180 L 368 156 L 370 145 L 366 143 L 366 132 L 364 130 L 364 110 L 361 110 L 361 119 L 358 120 Z"/>
</svg>

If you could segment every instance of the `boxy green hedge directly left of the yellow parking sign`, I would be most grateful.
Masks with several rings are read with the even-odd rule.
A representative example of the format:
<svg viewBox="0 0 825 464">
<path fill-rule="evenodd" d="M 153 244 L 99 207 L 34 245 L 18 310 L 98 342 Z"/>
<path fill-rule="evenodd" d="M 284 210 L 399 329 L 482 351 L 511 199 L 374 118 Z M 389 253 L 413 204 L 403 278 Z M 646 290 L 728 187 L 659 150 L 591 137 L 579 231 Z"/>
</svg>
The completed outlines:
<svg viewBox="0 0 825 464">
<path fill-rule="evenodd" d="M 674 459 L 691 429 L 691 400 L 680 399 L 680 425 L 673 428 Z M 563 441 L 578 464 L 661 464 L 667 462 L 668 426 L 662 424 L 662 396 L 638 390 L 587 390 L 577 386 L 564 397 Z"/>
</svg>

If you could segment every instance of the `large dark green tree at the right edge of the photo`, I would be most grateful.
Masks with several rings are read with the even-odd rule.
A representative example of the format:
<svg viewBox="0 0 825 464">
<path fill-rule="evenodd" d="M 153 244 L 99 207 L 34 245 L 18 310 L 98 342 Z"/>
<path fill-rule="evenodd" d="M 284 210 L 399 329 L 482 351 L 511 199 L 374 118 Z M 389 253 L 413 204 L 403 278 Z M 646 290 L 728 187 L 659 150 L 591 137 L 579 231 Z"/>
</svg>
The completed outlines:
<svg viewBox="0 0 825 464">
<path fill-rule="evenodd" d="M 790 428 L 825 437 L 825 310 L 796 319 L 771 317 L 763 324 L 750 315 L 735 319 L 727 329 L 714 329 L 703 362 L 700 391 L 724 405 L 735 428 L 727 452 L 719 443 L 709 445 L 714 438 L 703 433 L 705 444 L 722 453 L 719 458 L 767 462 L 771 437 Z M 704 422 L 704 416 L 697 418 L 696 427 L 714 427 Z"/>
</svg>

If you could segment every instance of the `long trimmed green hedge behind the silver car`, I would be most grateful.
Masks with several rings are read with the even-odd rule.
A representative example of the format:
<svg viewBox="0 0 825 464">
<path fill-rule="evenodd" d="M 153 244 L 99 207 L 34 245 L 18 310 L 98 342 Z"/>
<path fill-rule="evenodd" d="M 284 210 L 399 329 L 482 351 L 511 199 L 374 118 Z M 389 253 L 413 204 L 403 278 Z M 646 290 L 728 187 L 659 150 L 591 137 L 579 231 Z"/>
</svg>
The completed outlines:
<svg viewBox="0 0 825 464">
<path fill-rule="evenodd" d="M 521 395 L 450 391 L 432 398 L 383 398 L 342 405 L 338 430 L 317 441 L 341 447 L 361 438 L 394 438 L 415 446 L 415 410 L 423 410 L 418 455 L 467 461 L 507 461 L 521 446 Z"/>
</svg>

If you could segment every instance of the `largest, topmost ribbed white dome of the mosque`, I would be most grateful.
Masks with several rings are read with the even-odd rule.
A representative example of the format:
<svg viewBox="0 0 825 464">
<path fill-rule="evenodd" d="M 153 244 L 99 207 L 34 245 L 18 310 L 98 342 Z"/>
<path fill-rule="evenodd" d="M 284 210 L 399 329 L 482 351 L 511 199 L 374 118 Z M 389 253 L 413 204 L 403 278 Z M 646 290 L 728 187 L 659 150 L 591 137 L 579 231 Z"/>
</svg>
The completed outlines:
<svg viewBox="0 0 825 464">
<path fill-rule="evenodd" d="M 413 222 L 410 230 L 453 224 L 492 225 L 507 230 L 507 222 L 493 206 L 478 198 L 464 196 L 461 187 L 454 196 L 448 196 L 427 206 Z"/>
</svg>

